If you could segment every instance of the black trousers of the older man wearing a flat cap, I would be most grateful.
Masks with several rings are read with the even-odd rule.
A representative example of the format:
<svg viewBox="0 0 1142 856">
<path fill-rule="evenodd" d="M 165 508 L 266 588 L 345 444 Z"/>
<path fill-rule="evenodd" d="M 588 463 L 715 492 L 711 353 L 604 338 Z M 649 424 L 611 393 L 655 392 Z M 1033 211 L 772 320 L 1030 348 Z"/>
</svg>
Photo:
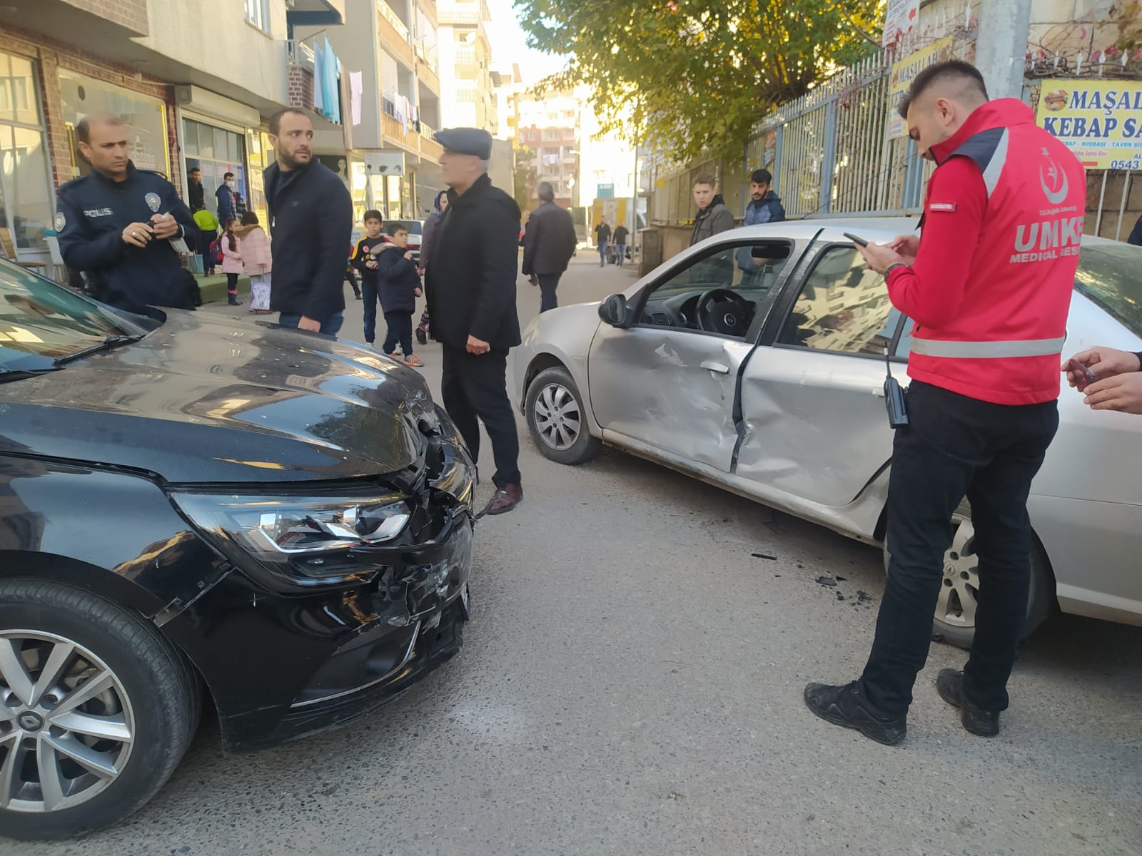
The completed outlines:
<svg viewBox="0 0 1142 856">
<path fill-rule="evenodd" d="M 444 410 L 468 444 L 472 459 L 480 459 L 478 417 L 492 441 L 492 482 L 497 487 L 520 484 L 520 438 L 507 397 L 507 350 L 493 348 L 477 356 L 445 345 L 441 391 Z"/>
</svg>

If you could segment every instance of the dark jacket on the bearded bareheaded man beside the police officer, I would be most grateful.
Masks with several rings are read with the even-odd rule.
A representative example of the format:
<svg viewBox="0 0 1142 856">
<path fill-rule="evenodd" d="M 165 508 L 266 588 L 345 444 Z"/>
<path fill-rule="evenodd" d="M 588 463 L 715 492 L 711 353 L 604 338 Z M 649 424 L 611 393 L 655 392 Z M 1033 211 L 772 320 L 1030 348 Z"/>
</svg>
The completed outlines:
<svg viewBox="0 0 1142 856">
<path fill-rule="evenodd" d="M 274 242 L 270 308 L 324 323 L 345 309 L 345 248 L 353 241 L 348 187 L 314 160 L 289 172 L 271 164 L 265 188 Z"/>
</svg>

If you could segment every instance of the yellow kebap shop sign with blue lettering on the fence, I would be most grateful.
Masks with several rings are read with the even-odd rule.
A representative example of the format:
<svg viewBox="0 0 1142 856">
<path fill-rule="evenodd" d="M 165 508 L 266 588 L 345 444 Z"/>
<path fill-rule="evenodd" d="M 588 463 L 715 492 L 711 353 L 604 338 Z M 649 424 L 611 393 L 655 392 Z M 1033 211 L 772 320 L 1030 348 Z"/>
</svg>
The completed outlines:
<svg viewBox="0 0 1142 856">
<path fill-rule="evenodd" d="M 1142 169 L 1142 82 L 1045 80 L 1035 121 L 1087 169 Z"/>
</svg>

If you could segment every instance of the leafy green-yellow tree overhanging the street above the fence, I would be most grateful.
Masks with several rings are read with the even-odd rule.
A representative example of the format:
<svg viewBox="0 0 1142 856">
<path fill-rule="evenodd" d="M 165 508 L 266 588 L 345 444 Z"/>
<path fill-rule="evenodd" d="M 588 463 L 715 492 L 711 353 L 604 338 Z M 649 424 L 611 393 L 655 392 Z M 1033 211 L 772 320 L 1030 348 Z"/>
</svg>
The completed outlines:
<svg viewBox="0 0 1142 856">
<path fill-rule="evenodd" d="M 604 130 L 678 160 L 738 154 L 753 126 L 876 49 L 883 0 L 516 0 L 528 43 L 569 58 Z"/>
</svg>

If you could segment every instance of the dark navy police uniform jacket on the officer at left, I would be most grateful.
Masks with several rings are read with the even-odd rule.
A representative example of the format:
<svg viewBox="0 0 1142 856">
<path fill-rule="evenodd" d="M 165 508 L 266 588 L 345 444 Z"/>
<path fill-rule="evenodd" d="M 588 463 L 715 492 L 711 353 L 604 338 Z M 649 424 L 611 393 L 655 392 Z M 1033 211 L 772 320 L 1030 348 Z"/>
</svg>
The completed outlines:
<svg viewBox="0 0 1142 856">
<path fill-rule="evenodd" d="M 94 297 L 128 312 L 146 306 L 192 309 L 199 302 L 194 277 L 170 243 L 182 237 L 193 250 L 198 226 L 175 185 L 160 173 L 130 162 L 122 181 L 91 171 L 59 188 L 56 211 L 59 252 L 67 267 L 83 272 Z M 152 237 L 146 247 L 123 241 L 128 225 L 161 213 L 178 221 L 170 240 Z"/>
</svg>

